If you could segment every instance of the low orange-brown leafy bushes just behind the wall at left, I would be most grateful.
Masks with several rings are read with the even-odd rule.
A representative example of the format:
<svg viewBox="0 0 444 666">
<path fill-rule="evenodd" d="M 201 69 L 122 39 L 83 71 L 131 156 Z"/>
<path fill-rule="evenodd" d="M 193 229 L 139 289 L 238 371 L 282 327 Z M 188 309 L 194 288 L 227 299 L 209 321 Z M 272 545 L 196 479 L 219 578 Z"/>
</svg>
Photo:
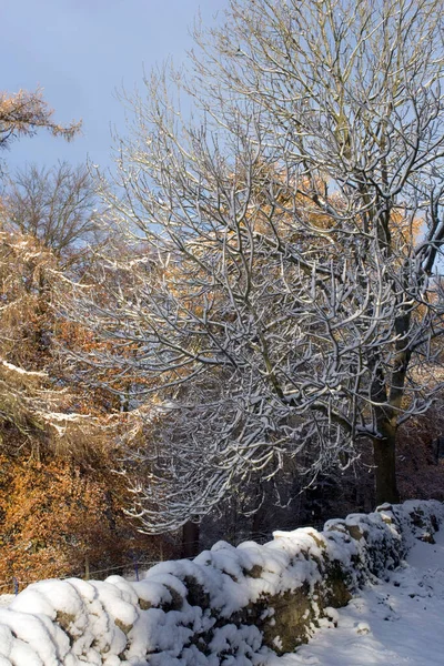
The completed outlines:
<svg viewBox="0 0 444 666">
<path fill-rule="evenodd" d="M 105 577 L 131 571 L 133 556 L 171 555 L 171 545 L 139 534 L 123 515 L 119 480 L 4 454 L 0 470 L 0 585 L 83 576 L 87 558 L 91 575 Z"/>
</svg>

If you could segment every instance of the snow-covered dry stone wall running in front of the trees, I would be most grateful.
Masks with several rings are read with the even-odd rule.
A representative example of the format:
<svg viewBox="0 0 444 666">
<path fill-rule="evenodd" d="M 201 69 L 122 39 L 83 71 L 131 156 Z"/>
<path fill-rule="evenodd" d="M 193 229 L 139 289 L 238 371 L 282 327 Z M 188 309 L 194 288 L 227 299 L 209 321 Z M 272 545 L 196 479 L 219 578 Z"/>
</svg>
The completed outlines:
<svg viewBox="0 0 444 666">
<path fill-rule="evenodd" d="M 220 542 L 138 583 L 42 581 L 0 608 L 0 666 L 265 665 L 334 624 L 336 607 L 443 518 L 437 502 L 384 505 L 263 546 Z"/>
</svg>

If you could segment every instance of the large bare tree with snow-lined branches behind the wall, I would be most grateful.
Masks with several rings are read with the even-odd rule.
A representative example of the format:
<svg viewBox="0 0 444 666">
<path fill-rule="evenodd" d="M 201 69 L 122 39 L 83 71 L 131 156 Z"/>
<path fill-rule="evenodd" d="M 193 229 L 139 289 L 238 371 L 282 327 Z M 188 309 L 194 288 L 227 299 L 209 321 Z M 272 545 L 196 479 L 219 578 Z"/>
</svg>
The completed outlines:
<svg viewBox="0 0 444 666">
<path fill-rule="evenodd" d="M 397 427 L 440 384 L 442 38 L 437 0 L 233 0 L 180 78 L 195 120 L 164 72 L 132 100 L 103 194 L 150 250 L 105 262 L 98 293 L 115 270 L 124 289 L 83 289 L 75 316 L 113 341 L 98 369 L 164 401 L 148 531 L 286 456 L 346 467 L 360 441 L 398 500 Z"/>
</svg>

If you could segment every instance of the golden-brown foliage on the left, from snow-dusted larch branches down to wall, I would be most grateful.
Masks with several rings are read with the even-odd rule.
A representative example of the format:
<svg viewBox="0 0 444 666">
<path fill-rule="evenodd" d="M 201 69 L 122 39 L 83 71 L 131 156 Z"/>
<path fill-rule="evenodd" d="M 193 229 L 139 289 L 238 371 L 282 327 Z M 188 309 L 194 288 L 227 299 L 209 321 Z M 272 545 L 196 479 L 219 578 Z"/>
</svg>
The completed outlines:
<svg viewBox="0 0 444 666">
<path fill-rule="evenodd" d="M 94 340 L 51 306 L 57 259 L 37 239 L 0 230 L 0 585 L 131 571 L 174 544 L 141 535 L 124 515 L 118 466 L 123 427 L 99 391 L 70 382 L 56 347 Z M 1 592 L 1 587 L 0 587 Z"/>
</svg>

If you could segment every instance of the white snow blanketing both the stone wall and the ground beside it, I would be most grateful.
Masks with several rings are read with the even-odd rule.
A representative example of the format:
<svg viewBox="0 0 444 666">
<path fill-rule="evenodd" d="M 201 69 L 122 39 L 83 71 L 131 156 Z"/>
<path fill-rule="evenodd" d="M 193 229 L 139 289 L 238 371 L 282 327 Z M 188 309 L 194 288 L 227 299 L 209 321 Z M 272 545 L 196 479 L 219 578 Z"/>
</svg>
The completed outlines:
<svg viewBox="0 0 444 666">
<path fill-rule="evenodd" d="M 41 581 L 0 608 L 0 666 L 405 665 L 412 643 L 423 647 L 440 633 L 444 536 L 417 538 L 433 541 L 443 516 L 436 502 L 384 506 L 329 521 L 322 533 L 275 532 L 264 545 L 219 542 L 192 562 L 158 564 L 140 582 Z M 333 565 L 354 593 L 364 586 L 342 610 L 329 607 L 323 576 Z M 280 603 L 296 592 L 307 601 L 307 635 L 321 628 L 279 657 L 287 639 Z M 437 664 L 435 648 L 444 652 L 442 638 L 426 662 L 417 648 L 415 666 Z"/>
</svg>

